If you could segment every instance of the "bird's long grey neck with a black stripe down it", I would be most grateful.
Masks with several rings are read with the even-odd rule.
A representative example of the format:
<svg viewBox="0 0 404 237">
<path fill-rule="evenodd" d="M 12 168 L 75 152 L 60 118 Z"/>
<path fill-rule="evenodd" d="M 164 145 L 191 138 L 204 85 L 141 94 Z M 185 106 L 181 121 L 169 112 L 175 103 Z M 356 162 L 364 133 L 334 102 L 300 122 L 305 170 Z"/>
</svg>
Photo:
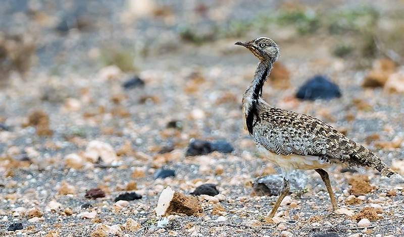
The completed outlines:
<svg viewBox="0 0 404 237">
<path fill-rule="evenodd" d="M 261 61 L 251 81 L 243 94 L 242 106 L 245 128 L 252 135 L 252 127 L 258 116 L 258 102 L 262 96 L 262 88 L 268 75 L 271 73 L 273 63 L 270 61 Z"/>
</svg>

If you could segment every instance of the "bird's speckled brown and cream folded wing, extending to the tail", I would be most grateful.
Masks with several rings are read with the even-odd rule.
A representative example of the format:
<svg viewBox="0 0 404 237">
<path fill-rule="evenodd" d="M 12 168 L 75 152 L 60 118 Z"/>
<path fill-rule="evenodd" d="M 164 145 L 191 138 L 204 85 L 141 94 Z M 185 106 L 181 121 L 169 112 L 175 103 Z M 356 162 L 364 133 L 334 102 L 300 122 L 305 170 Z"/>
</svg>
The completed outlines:
<svg viewBox="0 0 404 237">
<path fill-rule="evenodd" d="M 253 131 L 256 143 L 276 154 L 313 155 L 370 166 L 387 176 L 395 173 L 369 149 L 307 114 L 270 107 L 258 116 Z"/>
</svg>

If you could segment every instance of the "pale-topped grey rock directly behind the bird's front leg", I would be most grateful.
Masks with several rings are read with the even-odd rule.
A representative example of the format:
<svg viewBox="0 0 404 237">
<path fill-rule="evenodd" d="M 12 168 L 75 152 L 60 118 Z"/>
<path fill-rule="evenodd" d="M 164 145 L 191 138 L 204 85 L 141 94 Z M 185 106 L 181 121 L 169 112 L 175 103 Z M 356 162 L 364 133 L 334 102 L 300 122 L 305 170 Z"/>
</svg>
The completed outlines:
<svg viewBox="0 0 404 237">
<path fill-rule="evenodd" d="M 300 170 L 293 171 L 289 177 L 290 191 L 304 190 L 307 184 L 307 175 Z M 270 174 L 257 177 L 252 184 L 252 192 L 257 196 L 277 196 L 283 186 L 282 174 Z"/>
</svg>

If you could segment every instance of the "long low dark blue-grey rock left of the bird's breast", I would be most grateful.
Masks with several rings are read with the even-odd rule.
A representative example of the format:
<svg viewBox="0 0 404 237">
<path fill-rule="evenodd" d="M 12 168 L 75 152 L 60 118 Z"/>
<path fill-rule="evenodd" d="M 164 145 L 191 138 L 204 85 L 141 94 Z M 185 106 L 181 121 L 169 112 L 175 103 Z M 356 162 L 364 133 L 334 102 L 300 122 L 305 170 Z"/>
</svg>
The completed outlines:
<svg viewBox="0 0 404 237">
<path fill-rule="evenodd" d="M 201 141 L 191 140 L 186 150 L 186 156 L 206 155 L 214 151 L 222 153 L 230 153 L 233 151 L 233 146 L 226 141 Z"/>
</svg>

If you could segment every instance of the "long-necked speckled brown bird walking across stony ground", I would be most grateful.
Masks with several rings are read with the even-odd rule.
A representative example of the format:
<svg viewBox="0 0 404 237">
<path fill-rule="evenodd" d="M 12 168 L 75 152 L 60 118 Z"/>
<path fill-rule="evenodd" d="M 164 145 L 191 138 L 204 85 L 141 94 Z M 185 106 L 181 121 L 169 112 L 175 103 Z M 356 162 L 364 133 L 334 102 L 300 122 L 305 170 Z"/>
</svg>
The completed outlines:
<svg viewBox="0 0 404 237">
<path fill-rule="evenodd" d="M 270 38 L 259 37 L 236 42 L 256 55 L 260 62 L 242 97 L 244 127 L 254 138 L 263 157 L 277 165 L 283 175 L 283 186 L 269 217 L 274 217 L 283 198 L 289 193 L 289 176 L 295 169 L 315 170 L 320 174 L 338 209 L 330 177 L 325 168 L 334 164 L 368 166 L 392 179 L 402 179 L 368 148 L 345 137 L 316 117 L 271 106 L 262 98 L 273 64 L 279 57 L 279 46 Z"/>
</svg>

